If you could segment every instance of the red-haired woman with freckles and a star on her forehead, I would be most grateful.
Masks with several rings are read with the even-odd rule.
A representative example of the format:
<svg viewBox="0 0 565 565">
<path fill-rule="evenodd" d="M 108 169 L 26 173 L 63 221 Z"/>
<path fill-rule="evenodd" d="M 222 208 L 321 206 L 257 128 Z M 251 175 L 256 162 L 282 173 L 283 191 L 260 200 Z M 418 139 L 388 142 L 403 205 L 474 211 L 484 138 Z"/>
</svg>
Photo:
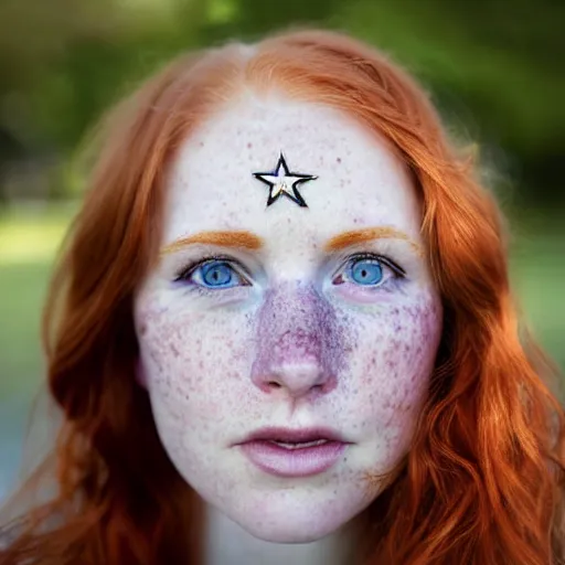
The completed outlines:
<svg viewBox="0 0 565 565">
<path fill-rule="evenodd" d="M 57 490 L 0 563 L 558 563 L 563 412 L 408 76 L 231 44 L 103 139 L 45 313 Z"/>
</svg>

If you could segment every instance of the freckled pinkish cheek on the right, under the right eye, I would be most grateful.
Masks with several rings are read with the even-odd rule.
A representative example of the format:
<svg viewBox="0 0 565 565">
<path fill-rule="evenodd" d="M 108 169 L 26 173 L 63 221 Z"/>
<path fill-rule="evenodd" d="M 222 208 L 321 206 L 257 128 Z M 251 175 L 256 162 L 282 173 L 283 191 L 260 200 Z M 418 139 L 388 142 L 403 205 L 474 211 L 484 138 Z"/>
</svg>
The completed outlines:
<svg viewBox="0 0 565 565">
<path fill-rule="evenodd" d="M 406 427 L 427 391 L 441 334 L 441 308 L 433 297 L 383 308 L 356 321 L 349 381 L 360 398 L 352 415 L 371 430 Z M 362 391 L 362 394 L 359 394 Z"/>
</svg>

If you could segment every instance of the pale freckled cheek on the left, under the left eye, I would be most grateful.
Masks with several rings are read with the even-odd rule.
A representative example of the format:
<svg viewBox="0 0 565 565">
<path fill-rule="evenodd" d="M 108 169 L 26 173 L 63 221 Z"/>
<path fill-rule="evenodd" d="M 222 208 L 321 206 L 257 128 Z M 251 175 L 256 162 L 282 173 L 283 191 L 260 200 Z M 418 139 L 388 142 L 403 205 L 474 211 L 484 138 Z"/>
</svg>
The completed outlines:
<svg viewBox="0 0 565 565">
<path fill-rule="evenodd" d="M 147 305 L 138 319 L 141 370 L 153 407 L 159 403 L 172 418 L 186 419 L 190 413 L 206 423 L 230 413 L 236 397 L 242 401 L 237 391 L 241 375 L 249 372 L 250 334 L 244 315 L 215 317 Z"/>
</svg>

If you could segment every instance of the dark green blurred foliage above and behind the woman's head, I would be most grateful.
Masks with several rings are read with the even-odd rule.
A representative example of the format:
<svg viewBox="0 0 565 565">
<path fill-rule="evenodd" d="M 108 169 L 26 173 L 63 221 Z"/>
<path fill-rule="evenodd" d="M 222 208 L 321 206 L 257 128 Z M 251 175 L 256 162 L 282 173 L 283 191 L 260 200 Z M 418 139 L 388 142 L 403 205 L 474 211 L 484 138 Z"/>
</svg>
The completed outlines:
<svg viewBox="0 0 565 565">
<path fill-rule="evenodd" d="M 180 51 L 320 24 L 390 51 L 426 82 L 457 137 L 481 141 L 530 199 L 555 202 L 564 19 L 552 0 L 3 0 L 0 178 L 2 163 L 45 154 L 64 171 L 100 113 Z M 52 194 L 72 186 L 60 169 L 52 180 Z"/>
</svg>

